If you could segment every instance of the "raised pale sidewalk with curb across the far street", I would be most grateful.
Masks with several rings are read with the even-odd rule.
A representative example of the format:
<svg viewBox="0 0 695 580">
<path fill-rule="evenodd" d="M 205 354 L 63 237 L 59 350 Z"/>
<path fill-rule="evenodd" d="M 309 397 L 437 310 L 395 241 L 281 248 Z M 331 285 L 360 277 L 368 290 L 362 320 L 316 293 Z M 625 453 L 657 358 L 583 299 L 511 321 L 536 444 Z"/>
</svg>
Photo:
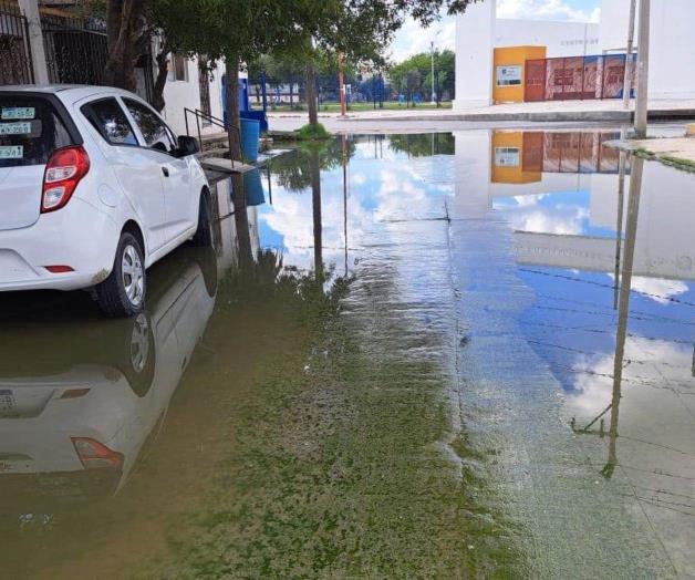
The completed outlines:
<svg viewBox="0 0 695 580">
<path fill-rule="evenodd" d="M 378 124 L 383 128 L 391 123 L 417 123 L 449 126 L 450 123 L 498 123 L 498 122 L 546 122 L 546 123 L 620 123 L 632 120 L 634 102 L 630 111 L 623 108 L 622 101 L 611 99 L 605 101 L 548 101 L 540 103 L 514 103 L 504 105 L 456 110 L 417 110 L 403 108 L 398 111 L 364 111 L 349 113 L 341 117 L 339 113 L 320 113 L 319 117 L 329 131 L 372 130 Z M 307 123 L 307 112 L 268 113 L 274 131 L 293 131 Z M 695 99 L 691 100 L 658 100 L 650 103 L 650 120 L 695 120 Z M 366 126 L 369 125 L 369 126 Z M 436 128 L 433 127 L 433 128 Z M 424 127 L 421 127 L 424 128 Z"/>
</svg>

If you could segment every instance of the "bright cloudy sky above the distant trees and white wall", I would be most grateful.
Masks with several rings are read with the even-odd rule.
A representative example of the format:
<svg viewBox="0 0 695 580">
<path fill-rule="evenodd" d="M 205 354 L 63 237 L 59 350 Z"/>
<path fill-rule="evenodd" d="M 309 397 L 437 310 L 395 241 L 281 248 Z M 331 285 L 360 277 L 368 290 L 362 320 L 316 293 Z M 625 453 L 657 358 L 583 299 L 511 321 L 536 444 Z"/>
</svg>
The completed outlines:
<svg viewBox="0 0 695 580">
<path fill-rule="evenodd" d="M 498 18 L 523 18 L 539 20 L 598 21 L 601 0 L 497 0 Z M 394 61 L 429 50 L 434 40 L 438 49 L 454 49 L 456 25 L 453 17 L 444 15 L 428 29 L 408 21 L 401 29 L 393 44 Z"/>
</svg>

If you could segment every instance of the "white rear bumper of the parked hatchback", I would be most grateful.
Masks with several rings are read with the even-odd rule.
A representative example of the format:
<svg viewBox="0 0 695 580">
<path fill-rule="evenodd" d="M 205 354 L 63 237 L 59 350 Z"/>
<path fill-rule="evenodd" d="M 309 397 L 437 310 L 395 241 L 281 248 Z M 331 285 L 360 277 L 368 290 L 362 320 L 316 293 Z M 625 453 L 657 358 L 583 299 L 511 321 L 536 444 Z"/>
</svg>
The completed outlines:
<svg viewBox="0 0 695 580">
<path fill-rule="evenodd" d="M 0 291 L 76 290 L 105 280 L 120 231 L 113 219 L 73 197 L 30 227 L 0 231 Z M 68 266 L 53 273 L 46 266 Z"/>
</svg>

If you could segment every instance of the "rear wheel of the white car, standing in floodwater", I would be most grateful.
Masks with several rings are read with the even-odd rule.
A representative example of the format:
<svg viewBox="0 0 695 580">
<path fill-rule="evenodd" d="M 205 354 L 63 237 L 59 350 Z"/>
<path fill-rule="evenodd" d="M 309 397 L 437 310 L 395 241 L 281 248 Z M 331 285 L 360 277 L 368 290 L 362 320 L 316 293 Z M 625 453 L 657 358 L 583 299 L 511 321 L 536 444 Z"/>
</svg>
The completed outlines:
<svg viewBox="0 0 695 580">
<path fill-rule="evenodd" d="M 96 302 L 108 318 L 132 317 L 143 311 L 146 289 L 142 245 L 133 234 L 124 231 L 111 275 L 95 288 Z"/>
</svg>

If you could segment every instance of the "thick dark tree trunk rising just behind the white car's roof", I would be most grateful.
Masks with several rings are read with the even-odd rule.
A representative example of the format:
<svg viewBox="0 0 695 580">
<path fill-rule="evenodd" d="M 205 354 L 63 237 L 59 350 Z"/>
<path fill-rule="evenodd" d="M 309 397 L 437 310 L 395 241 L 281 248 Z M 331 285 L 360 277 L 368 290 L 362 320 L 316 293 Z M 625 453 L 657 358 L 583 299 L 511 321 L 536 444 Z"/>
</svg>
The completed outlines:
<svg viewBox="0 0 695 580">
<path fill-rule="evenodd" d="M 145 2 L 143 0 L 108 0 L 106 7 L 106 42 L 108 60 L 104 83 L 135 91 L 135 61 L 141 45 Z"/>
</svg>

